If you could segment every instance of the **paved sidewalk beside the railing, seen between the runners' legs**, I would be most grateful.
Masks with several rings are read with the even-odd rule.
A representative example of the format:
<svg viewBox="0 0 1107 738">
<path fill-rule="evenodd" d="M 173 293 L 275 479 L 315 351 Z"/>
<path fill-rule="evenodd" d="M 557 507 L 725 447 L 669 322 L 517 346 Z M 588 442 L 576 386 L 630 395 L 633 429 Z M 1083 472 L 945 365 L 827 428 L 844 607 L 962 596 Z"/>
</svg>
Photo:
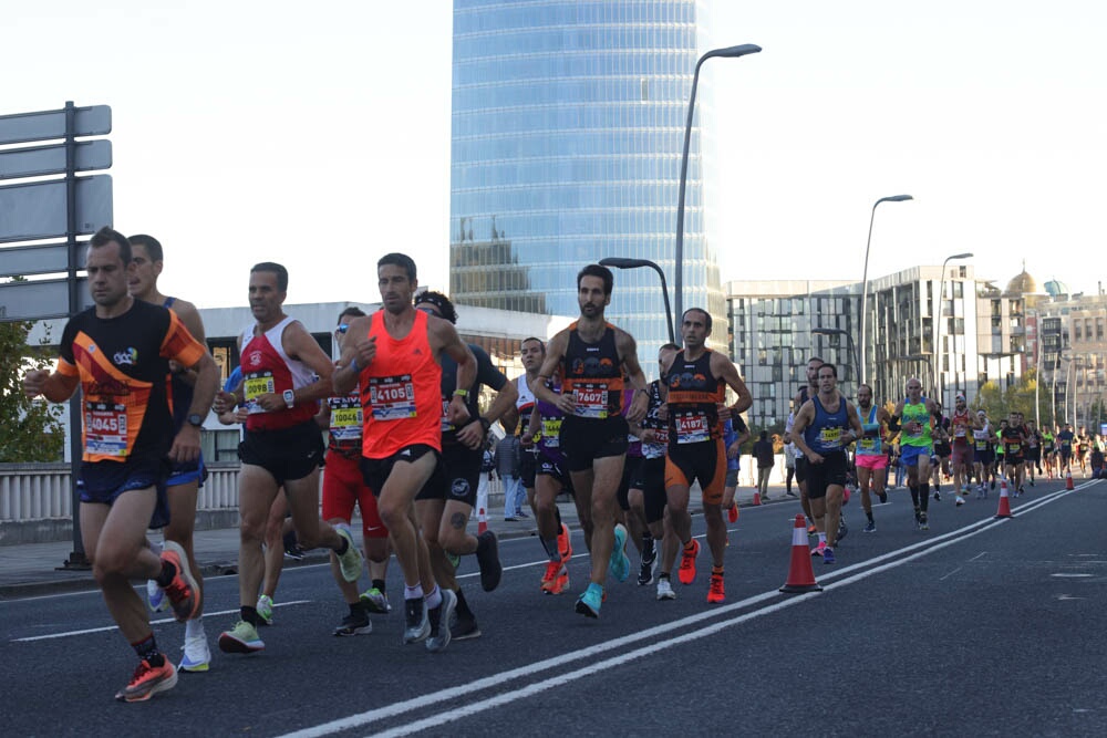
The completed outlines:
<svg viewBox="0 0 1107 738">
<path fill-rule="evenodd" d="M 783 485 L 769 486 L 769 497 L 774 502 L 798 499 L 785 497 Z M 753 503 L 753 489 L 739 487 L 736 498 L 741 507 L 749 507 Z M 499 502 L 499 505 L 503 503 Z M 561 510 L 562 521 L 570 529 L 578 530 L 580 521 L 572 502 L 566 497 L 560 497 L 558 498 L 558 507 Z M 699 498 L 694 492 L 691 510 L 693 514 L 701 512 Z M 530 514 L 529 510 L 527 513 Z M 359 527 L 360 524 L 355 521 L 355 532 Z M 505 521 L 501 507 L 489 511 L 488 528 L 496 531 L 496 534 L 505 540 L 536 536 L 534 518 L 520 519 L 515 522 Z M 468 530 L 472 533 L 477 532 L 475 516 L 469 520 Z M 196 560 L 203 568 L 205 576 L 237 573 L 237 528 L 196 531 L 195 542 Z M 96 589 L 92 572 L 62 569 L 72 551 L 72 541 L 0 547 L 0 600 Z M 286 558 L 284 565 L 293 568 L 325 561 L 327 552 L 314 550 L 309 551 L 302 562 Z"/>
</svg>

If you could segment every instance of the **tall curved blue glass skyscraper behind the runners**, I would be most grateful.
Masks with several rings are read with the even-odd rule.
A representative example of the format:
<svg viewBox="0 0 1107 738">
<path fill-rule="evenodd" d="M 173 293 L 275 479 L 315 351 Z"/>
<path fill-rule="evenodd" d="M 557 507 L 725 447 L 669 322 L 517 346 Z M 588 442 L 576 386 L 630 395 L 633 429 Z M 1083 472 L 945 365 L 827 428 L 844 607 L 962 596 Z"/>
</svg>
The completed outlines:
<svg viewBox="0 0 1107 738">
<path fill-rule="evenodd" d="M 577 272 L 604 257 L 654 261 L 672 289 L 681 150 L 705 21 L 702 0 L 455 0 L 449 291 L 457 303 L 573 316 Z M 711 104 L 701 74 L 684 305 L 707 308 L 713 343 L 725 349 L 703 198 L 711 141 L 701 124 Z M 638 339 L 652 374 L 669 340 L 660 280 L 652 269 L 612 271 L 607 314 Z"/>
</svg>

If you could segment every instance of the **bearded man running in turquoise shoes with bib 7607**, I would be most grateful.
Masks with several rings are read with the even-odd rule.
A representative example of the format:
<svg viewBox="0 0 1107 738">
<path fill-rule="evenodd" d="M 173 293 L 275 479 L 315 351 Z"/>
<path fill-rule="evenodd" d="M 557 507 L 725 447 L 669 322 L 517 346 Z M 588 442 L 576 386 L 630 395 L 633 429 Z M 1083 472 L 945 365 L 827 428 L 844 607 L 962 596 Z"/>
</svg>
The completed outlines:
<svg viewBox="0 0 1107 738">
<path fill-rule="evenodd" d="M 611 302 L 611 270 L 589 264 L 577 274 L 580 318 L 550 341 L 546 361 L 530 388 L 535 397 L 556 404 L 566 414 L 560 448 L 566 456 L 572 488 L 591 552 L 591 583 L 576 611 L 599 617 L 608 569 L 619 581 L 630 575 L 623 549 L 627 529 L 614 524 L 619 484 L 627 456 L 628 420 L 645 416 L 649 405 L 645 376 L 638 364 L 633 336 L 603 320 Z M 560 368 L 561 393 L 546 385 Z M 640 391 L 630 412 L 622 415 L 623 373 Z"/>
</svg>

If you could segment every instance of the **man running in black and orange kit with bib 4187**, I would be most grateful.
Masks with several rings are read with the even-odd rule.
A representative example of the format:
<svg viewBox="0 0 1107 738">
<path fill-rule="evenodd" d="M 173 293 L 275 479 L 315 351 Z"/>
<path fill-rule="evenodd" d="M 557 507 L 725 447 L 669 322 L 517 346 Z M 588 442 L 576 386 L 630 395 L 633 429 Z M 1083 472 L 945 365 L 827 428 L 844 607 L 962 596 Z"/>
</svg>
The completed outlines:
<svg viewBox="0 0 1107 738">
<path fill-rule="evenodd" d="M 700 542 L 692 537 L 689 497 L 692 484 L 700 481 L 703 490 L 703 518 L 707 526 L 711 548 L 711 583 L 707 602 L 726 599 L 723 583 L 723 558 L 726 553 L 726 523 L 723 520 L 723 489 L 726 485 L 726 448 L 723 424 L 753 405 L 753 397 L 738 376 L 734 364 L 723 354 L 707 347 L 711 314 L 701 308 L 690 308 L 681 318 L 684 350 L 664 366 L 669 384 L 669 454 L 665 458 L 665 496 L 669 521 L 682 545 L 681 584 L 695 581 L 695 560 Z M 724 404 L 726 387 L 737 394 L 734 405 Z M 662 576 L 672 571 L 675 551 L 666 550 Z"/>
</svg>

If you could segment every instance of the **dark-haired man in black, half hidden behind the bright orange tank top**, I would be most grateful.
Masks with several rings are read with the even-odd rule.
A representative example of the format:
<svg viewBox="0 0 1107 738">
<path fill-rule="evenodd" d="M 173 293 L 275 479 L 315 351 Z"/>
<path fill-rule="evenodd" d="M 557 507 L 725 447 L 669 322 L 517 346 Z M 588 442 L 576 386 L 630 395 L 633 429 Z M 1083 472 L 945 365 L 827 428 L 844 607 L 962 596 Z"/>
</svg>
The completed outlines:
<svg viewBox="0 0 1107 738">
<path fill-rule="evenodd" d="M 428 316 L 445 319 L 451 325 L 457 323 L 454 303 L 441 292 L 420 293 L 415 298 L 415 308 Z M 441 360 L 442 461 L 415 497 L 415 514 L 426 540 L 434 578 L 438 586 L 452 591 L 457 599 L 457 623 L 449 630 L 451 638 L 458 641 L 479 636 L 480 628 L 457 583 L 456 564 L 451 559 L 456 561 L 459 557 L 475 553 L 480 567 L 480 586 L 485 592 L 492 592 L 499 585 L 504 572 L 497 553 L 496 533 L 486 530 L 480 536 L 473 536 L 466 524 L 476 505 L 488 428 L 511 410 L 518 398 L 515 384 L 493 366 L 485 350 L 474 344 L 469 344 L 468 349 L 477 367 L 476 378 L 468 385 L 462 385 L 458 380 L 457 362 L 448 354 Z M 482 386 L 496 391 L 485 416 L 480 415 L 477 405 Z M 459 423 L 452 423 L 448 414 L 456 387 L 465 391 L 461 396 L 465 401 L 466 417 Z"/>
</svg>

